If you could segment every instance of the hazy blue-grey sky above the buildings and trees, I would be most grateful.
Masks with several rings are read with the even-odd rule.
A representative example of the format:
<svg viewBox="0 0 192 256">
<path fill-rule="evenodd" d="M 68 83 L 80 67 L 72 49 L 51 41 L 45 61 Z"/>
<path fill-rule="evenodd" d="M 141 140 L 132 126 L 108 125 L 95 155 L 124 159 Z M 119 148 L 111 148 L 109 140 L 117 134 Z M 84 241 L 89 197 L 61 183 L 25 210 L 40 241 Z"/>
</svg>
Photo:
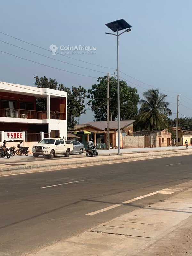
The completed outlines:
<svg viewBox="0 0 192 256">
<path fill-rule="evenodd" d="M 179 117 L 192 117 L 191 0 L 4 0 L 1 11 L 0 81 L 35 86 L 34 76 L 46 76 L 69 88 L 90 89 L 97 77 L 117 68 L 116 37 L 105 34 L 112 32 L 105 24 L 124 19 L 132 28 L 119 37 L 119 70 L 126 74 L 120 77 L 141 99 L 151 88 L 167 94 L 171 118 L 180 94 Z M 50 45 L 59 47 L 56 55 Z M 68 45 L 96 50 L 61 50 Z M 86 112 L 80 124 L 94 120 L 89 106 Z"/>
</svg>

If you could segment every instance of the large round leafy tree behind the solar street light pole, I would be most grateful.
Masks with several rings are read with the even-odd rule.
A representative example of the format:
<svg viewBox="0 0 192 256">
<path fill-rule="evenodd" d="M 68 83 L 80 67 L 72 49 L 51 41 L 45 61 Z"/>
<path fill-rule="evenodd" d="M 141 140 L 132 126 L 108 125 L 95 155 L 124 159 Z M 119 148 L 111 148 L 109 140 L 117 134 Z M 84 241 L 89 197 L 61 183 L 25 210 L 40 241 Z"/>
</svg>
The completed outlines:
<svg viewBox="0 0 192 256">
<path fill-rule="evenodd" d="M 107 76 L 97 79 L 99 84 L 93 84 L 88 90 L 89 104 L 94 112 L 95 121 L 107 120 Z M 117 119 L 117 80 L 109 78 L 109 109 L 110 120 Z M 136 88 L 127 86 L 125 81 L 119 82 L 120 91 L 120 120 L 129 120 L 137 115 L 139 95 Z"/>
</svg>

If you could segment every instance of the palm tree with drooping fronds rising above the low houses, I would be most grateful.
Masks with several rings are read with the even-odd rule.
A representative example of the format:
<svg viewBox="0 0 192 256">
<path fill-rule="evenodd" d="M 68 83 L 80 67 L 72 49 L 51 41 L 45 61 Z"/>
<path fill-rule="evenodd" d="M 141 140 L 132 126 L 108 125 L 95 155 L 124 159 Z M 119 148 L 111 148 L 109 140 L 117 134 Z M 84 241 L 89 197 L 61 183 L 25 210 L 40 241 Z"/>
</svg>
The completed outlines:
<svg viewBox="0 0 192 256">
<path fill-rule="evenodd" d="M 172 115 L 165 102 L 167 95 L 159 93 L 158 89 L 149 89 L 143 93 L 145 100 L 140 100 L 141 108 L 137 116 L 140 128 L 146 130 L 161 130 L 168 126 L 168 117 Z"/>
</svg>

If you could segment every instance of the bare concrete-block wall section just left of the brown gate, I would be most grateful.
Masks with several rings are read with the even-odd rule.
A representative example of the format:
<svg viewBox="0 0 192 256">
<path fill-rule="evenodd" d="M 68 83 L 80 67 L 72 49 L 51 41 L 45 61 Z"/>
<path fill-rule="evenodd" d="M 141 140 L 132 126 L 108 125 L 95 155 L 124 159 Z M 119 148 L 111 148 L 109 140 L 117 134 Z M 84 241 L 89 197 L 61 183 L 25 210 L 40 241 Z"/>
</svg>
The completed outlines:
<svg viewBox="0 0 192 256">
<path fill-rule="evenodd" d="M 122 136 L 123 148 L 145 148 L 145 136 Z"/>
</svg>

